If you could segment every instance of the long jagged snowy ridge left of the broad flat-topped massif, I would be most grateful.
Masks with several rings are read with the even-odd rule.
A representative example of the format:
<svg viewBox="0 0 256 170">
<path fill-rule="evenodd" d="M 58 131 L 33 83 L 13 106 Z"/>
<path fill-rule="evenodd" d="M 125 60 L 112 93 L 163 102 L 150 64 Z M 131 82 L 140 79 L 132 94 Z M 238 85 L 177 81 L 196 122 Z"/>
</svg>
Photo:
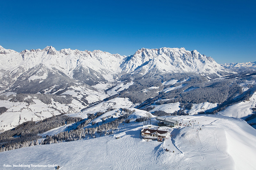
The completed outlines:
<svg viewBox="0 0 256 170">
<path fill-rule="evenodd" d="M 74 72 L 82 67 L 86 68 L 83 72 L 90 73 L 89 69 L 92 69 L 108 78 L 110 72 L 113 74 L 117 71 L 116 65 L 119 65 L 120 60 L 122 61 L 122 58 L 124 58 L 118 54 L 111 55 L 98 50 L 93 52 L 71 49 L 56 51 L 52 46 L 47 46 L 42 50 L 24 50 L 21 53 L 6 50 L 2 47 L 0 47 L 0 50 L 2 55 L 0 68 L 9 72 L 13 79 L 18 78 L 21 74 L 39 64 L 50 70 L 60 70 L 70 78 L 73 78 Z"/>
</svg>

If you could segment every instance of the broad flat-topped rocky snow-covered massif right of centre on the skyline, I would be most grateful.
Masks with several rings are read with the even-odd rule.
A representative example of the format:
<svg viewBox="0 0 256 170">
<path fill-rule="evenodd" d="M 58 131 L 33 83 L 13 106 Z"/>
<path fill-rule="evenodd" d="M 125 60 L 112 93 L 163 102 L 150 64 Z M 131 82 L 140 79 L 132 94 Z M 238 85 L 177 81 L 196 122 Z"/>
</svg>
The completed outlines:
<svg viewBox="0 0 256 170">
<path fill-rule="evenodd" d="M 201 74 L 227 75 L 231 72 L 213 58 L 201 55 L 196 50 L 185 48 L 141 48 L 122 63 L 122 70 L 127 73 L 147 74 L 148 72 L 196 72 Z"/>
</svg>

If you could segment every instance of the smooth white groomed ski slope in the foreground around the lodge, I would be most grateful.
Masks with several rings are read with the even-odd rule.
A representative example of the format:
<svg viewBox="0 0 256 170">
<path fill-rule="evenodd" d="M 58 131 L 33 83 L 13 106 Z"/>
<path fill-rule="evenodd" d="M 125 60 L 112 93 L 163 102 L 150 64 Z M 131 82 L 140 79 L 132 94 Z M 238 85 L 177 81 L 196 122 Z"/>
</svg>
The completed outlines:
<svg viewBox="0 0 256 170">
<path fill-rule="evenodd" d="M 256 130 L 245 121 L 221 115 L 179 116 L 175 119 L 190 126 L 171 129 L 164 142 L 142 139 L 143 122 L 131 121 L 120 124 L 119 130 L 109 136 L 1 152 L 0 167 L 15 169 L 4 168 L 4 164 L 58 164 L 67 170 L 255 169 Z M 151 123 L 156 125 L 155 119 Z M 116 139 L 117 136 L 120 138 Z M 174 153 L 166 152 L 166 147 Z"/>
</svg>

